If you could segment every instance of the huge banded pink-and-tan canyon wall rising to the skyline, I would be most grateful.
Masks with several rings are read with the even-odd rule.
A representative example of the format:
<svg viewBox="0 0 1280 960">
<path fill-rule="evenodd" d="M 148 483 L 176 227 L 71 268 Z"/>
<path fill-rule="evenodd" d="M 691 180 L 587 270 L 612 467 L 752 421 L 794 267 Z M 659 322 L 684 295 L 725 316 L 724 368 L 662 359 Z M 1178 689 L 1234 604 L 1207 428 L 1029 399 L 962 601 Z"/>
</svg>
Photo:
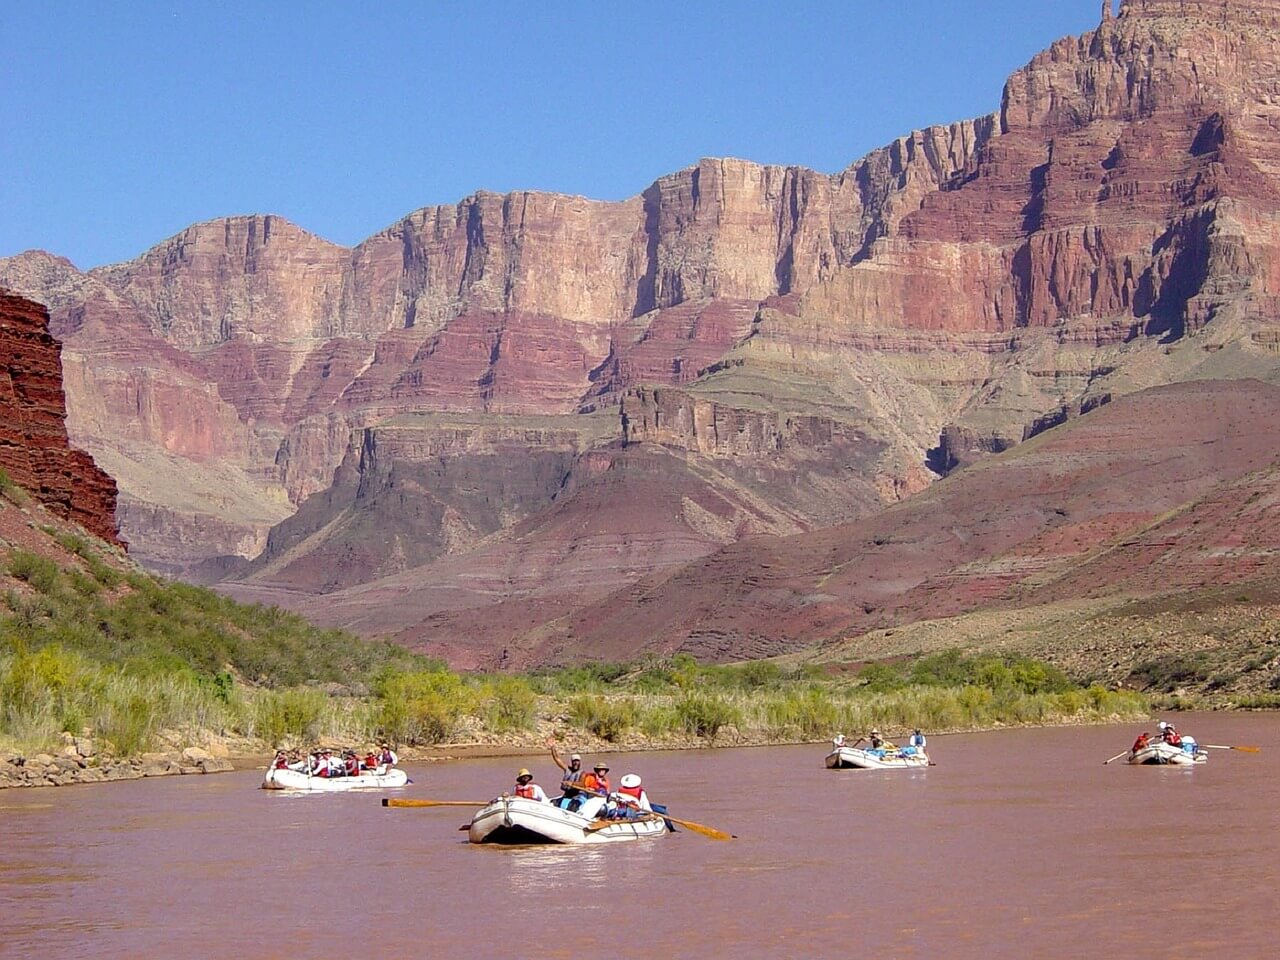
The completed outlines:
<svg viewBox="0 0 1280 960">
<path fill-rule="evenodd" d="M 1106 399 L 1280 379 L 1277 17 L 1103 4 L 991 115 L 837 174 L 477 193 L 351 250 L 232 218 L 0 282 L 51 305 L 72 436 L 143 561 L 343 609 L 412 595 L 343 622 L 439 614 L 420 635 L 461 649 L 480 617 L 536 632 L 594 593 L 548 559 L 573 530 L 636 582 L 867 516 Z M 634 549 L 640 503 L 678 548 Z"/>
</svg>

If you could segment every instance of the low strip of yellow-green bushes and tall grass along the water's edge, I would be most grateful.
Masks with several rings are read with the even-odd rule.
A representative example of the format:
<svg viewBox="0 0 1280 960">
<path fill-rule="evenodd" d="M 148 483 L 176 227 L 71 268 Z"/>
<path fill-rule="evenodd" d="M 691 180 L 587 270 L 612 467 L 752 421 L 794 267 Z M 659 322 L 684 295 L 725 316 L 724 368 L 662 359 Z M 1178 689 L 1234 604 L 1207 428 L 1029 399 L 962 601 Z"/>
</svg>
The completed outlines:
<svg viewBox="0 0 1280 960">
<path fill-rule="evenodd" d="M 1082 687 L 1044 663 L 960 652 L 851 673 L 677 655 L 522 676 L 388 662 L 364 690 L 237 677 L 187 668 L 141 677 L 63 646 L 15 649 L 0 658 L 0 783 L 214 772 L 228 756 L 315 744 L 387 740 L 406 756 L 463 744 L 536 750 L 548 737 L 596 750 L 731 746 L 1149 713 L 1140 695 Z"/>
</svg>

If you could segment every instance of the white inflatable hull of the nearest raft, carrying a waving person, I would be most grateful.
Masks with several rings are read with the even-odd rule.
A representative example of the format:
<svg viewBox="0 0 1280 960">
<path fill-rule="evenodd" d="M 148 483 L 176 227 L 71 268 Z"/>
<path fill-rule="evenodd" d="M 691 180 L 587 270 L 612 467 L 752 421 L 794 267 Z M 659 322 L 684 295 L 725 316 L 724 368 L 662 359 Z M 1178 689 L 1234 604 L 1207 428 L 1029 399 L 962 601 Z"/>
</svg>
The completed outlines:
<svg viewBox="0 0 1280 960">
<path fill-rule="evenodd" d="M 500 796 L 471 818 L 472 844 L 616 844 L 655 837 L 667 823 L 658 814 L 635 820 L 596 820 L 553 804 Z"/>
</svg>

